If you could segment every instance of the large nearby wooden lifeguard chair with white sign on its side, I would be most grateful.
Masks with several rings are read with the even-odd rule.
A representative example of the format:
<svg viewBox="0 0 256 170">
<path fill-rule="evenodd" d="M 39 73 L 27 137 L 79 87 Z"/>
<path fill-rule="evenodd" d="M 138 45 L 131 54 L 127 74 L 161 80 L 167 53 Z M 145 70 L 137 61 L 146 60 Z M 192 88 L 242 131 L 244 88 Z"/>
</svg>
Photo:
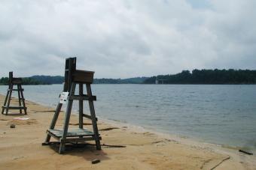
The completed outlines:
<svg viewBox="0 0 256 170">
<path fill-rule="evenodd" d="M 95 141 L 96 149 L 101 150 L 98 127 L 97 127 L 97 118 L 95 115 L 95 110 L 93 106 L 93 101 L 96 100 L 96 96 L 93 96 L 90 84 L 93 83 L 93 74 L 92 71 L 85 70 L 76 70 L 76 58 L 67 58 L 66 67 L 65 67 L 65 82 L 63 87 L 63 92 L 68 92 L 67 97 L 67 107 L 64 118 L 64 125 L 62 130 L 54 129 L 56 121 L 59 116 L 59 112 L 62 108 L 62 103 L 58 103 L 56 107 L 55 114 L 53 115 L 53 120 L 50 124 L 50 129 L 47 130 L 47 137 L 45 142 L 42 145 L 50 145 L 50 137 L 56 139 L 59 143 L 59 154 L 62 154 L 65 151 L 66 143 L 84 143 L 86 141 Z M 83 92 L 83 86 L 86 85 L 87 94 Z M 75 95 L 75 86 L 79 85 L 79 94 Z M 72 103 L 73 100 L 79 100 L 79 128 L 69 130 L 69 119 L 72 112 Z M 90 107 L 90 115 L 86 115 L 83 112 L 84 106 L 83 101 L 87 100 Z M 83 127 L 83 118 L 89 118 L 92 121 L 93 132 L 85 129 Z"/>
</svg>

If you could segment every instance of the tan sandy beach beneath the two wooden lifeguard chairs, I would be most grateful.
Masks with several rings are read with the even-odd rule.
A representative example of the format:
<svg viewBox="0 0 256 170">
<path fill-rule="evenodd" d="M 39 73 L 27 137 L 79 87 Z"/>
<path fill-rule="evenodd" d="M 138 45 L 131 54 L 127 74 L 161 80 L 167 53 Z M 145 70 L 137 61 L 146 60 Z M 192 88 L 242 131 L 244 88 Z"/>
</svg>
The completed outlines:
<svg viewBox="0 0 256 170">
<path fill-rule="evenodd" d="M 3 100 L 0 95 L 1 106 Z M 56 148 L 41 145 L 55 108 L 31 101 L 26 105 L 28 115 L 17 115 L 17 110 L 11 110 L 13 115 L 0 115 L 0 169 L 256 169 L 255 156 L 235 149 L 102 120 L 98 121 L 101 151 L 87 145 L 58 154 Z M 57 127 L 62 127 L 63 115 L 61 112 Z M 14 120 L 17 117 L 29 119 Z M 10 128 L 10 124 L 16 127 Z M 78 117 L 72 115 L 69 127 L 77 124 Z M 90 121 L 84 124 L 91 128 Z M 92 164 L 94 159 L 100 163 Z"/>
</svg>

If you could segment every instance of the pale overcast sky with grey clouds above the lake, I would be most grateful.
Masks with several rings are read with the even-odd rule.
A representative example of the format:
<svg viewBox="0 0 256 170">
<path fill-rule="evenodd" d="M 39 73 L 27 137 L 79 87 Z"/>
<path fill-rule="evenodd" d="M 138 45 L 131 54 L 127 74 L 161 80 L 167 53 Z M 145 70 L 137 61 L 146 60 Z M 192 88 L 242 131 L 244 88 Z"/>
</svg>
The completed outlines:
<svg viewBox="0 0 256 170">
<path fill-rule="evenodd" d="M 256 69 L 255 0 L 0 0 L 0 77 Z"/>
</svg>

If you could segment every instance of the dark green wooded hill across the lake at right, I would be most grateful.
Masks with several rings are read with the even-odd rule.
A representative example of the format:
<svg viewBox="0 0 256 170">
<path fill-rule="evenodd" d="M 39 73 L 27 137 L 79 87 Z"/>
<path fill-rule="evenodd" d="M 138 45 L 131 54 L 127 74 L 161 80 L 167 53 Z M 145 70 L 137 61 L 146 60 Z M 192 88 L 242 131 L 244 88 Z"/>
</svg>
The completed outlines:
<svg viewBox="0 0 256 170">
<path fill-rule="evenodd" d="M 166 84 L 256 84 L 256 70 L 183 70 L 174 75 L 159 75 L 145 79 L 145 84 L 154 84 L 164 79 Z"/>
</svg>

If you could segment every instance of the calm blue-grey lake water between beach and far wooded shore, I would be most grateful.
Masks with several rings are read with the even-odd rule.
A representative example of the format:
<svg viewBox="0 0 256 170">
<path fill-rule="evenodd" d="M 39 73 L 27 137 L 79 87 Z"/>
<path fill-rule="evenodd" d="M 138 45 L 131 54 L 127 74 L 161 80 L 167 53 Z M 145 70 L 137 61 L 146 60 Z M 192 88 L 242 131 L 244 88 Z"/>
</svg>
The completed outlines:
<svg viewBox="0 0 256 170">
<path fill-rule="evenodd" d="M 62 85 L 27 85 L 25 98 L 49 106 Z M 162 133 L 256 151 L 256 85 L 93 85 L 96 115 Z M 0 86 L 6 93 L 6 86 Z M 77 103 L 75 103 L 77 107 Z"/>
</svg>

